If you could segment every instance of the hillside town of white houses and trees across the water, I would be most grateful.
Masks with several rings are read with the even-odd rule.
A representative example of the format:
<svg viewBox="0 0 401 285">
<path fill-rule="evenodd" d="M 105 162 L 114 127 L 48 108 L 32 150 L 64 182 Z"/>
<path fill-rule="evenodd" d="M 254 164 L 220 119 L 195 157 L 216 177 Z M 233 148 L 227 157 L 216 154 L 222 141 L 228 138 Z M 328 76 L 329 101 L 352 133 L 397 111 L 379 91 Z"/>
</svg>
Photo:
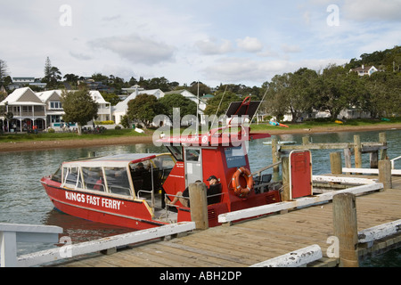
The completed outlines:
<svg viewBox="0 0 401 285">
<path fill-rule="evenodd" d="M 61 93 L 82 88 L 88 90 L 98 105 L 97 118 L 88 122 L 88 126 L 96 123 L 127 127 L 129 123 L 123 124 L 127 117 L 130 122 L 143 121 L 129 112 L 129 102 L 143 94 L 154 96 L 154 102 L 163 102 L 163 110 L 168 113 L 173 107 L 194 106 L 187 114 L 198 114 L 201 122 L 204 116 L 224 114 L 230 102 L 247 96 L 263 101 L 256 120 L 390 119 L 400 116 L 400 65 L 401 47 L 395 46 L 383 52 L 363 54 L 361 60 L 353 59 L 344 66 L 329 65 L 318 71 L 301 68 L 276 75 L 261 86 L 209 87 L 197 81 L 180 85 L 165 77 L 131 77 L 128 81 L 99 73 L 92 77 L 74 74 L 61 77 L 61 71 L 53 67 L 49 58 L 45 60 L 45 77 L 11 77 L 6 61 L 0 60 L 0 129 L 24 132 L 74 127 L 74 123 L 62 119 Z"/>
</svg>

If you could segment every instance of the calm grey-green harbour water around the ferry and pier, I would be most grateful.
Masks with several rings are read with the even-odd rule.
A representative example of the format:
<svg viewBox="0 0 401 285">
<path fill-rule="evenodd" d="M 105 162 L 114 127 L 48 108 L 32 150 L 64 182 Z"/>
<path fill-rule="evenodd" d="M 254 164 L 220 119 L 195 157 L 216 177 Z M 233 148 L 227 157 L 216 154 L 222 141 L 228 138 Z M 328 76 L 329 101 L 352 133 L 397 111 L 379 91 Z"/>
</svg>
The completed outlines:
<svg viewBox="0 0 401 285">
<path fill-rule="evenodd" d="M 358 133 L 362 142 L 378 142 L 380 132 Z M 401 155 L 401 131 L 387 131 L 389 142 L 389 158 Z M 312 142 L 353 142 L 356 133 L 311 134 Z M 302 143 L 304 134 L 279 135 L 281 141 L 295 141 Z M 264 145 L 263 140 L 250 142 L 250 167 L 255 171 L 272 162 L 271 147 Z M 74 243 L 86 240 L 96 240 L 105 236 L 131 232 L 126 228 L 97 224 L 64 215 L 53 209 L 53 204 L 47 198 L 40 179 L 45 175 L 53 174 L 62 161 L 87 157 L 90 151 L 97 156 L 127 153 L 127 152 L 165 152 L 163 147 L 152 144 L 136 144 L 131 146 L 109 146 L 90 149 L 57 150 L 57 151 L 27 151 L 0 154 L 0 223 L 12 224 L 45 224 L 58 225 L 64 229 L 64 235 L 70 236 Z M 312 151 L 314 175 L 330 172 L 331 151 Z M 369 167 L 369 155 L 364 154 L 364 167 Z M 401 161 L 396 163 L 401 168 Z M 53 245 L 19 244 L 19 255 L 37 250 L 52 248 Z M 389 253 L 396 264 L 388 266 L 401 266 L 401 251 L 393 250 Z M 372 258 L 364 266 L 381 266 L 381 257 Z"/>
</svg>

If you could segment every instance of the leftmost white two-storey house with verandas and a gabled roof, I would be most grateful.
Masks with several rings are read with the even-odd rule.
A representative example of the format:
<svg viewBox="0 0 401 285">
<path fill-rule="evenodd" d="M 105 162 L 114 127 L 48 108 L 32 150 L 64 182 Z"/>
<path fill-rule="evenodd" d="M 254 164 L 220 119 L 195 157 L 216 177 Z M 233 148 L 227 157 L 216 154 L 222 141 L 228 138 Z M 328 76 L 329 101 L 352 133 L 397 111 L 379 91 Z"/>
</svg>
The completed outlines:
<svg viewBox="0 0 401 285">
<path fill-rule="evenodd" d="M 33 129 L 46 128 L 45 103 L 29 87 L 16 89 L 8 95 L 0 106 L 5 107 L 5 112 L 12 112 L 12 119 L 6 122 L 5 116 L 0 116 L 0 120 L 5 126 L 4 131 L 22 132 Z M 5 124 L 4 124 L 5 123 Z"/>
</svg>

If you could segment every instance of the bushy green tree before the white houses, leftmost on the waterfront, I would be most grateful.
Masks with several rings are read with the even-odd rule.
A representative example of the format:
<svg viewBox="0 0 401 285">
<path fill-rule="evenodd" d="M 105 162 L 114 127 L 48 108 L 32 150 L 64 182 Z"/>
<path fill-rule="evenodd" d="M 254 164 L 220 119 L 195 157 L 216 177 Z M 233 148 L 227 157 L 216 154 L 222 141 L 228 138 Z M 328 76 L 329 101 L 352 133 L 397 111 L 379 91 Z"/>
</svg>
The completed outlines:
<svg viewBox="0 0 401 285">
<path fill-rule="evenodd" d="M 76 92 L 62 91 L 61 102 L 65 112 L 62 118 L 63 121 L 78 123 L 79 135 L 82 134 L 82 126 L 97 118 L 98 105 L 94 102 L 87 89 Z"/>
</svg>

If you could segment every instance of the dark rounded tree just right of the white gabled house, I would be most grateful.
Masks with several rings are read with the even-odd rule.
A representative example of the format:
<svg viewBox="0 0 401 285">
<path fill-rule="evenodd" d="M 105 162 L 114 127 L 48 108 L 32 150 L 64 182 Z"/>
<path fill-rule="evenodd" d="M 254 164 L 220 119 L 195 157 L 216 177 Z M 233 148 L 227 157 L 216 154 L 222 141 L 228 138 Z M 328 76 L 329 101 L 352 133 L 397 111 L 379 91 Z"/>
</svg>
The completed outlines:
<svg viewBox="0 0 401 285">
<path fill-rule="evenodd" d="M 154 95 L 140 94 L 128 102 L 128 118 L 138 120 L 146 127 L 151 126 L 153 118 L 164 113 L 165 108 Z"/>
</svg>

